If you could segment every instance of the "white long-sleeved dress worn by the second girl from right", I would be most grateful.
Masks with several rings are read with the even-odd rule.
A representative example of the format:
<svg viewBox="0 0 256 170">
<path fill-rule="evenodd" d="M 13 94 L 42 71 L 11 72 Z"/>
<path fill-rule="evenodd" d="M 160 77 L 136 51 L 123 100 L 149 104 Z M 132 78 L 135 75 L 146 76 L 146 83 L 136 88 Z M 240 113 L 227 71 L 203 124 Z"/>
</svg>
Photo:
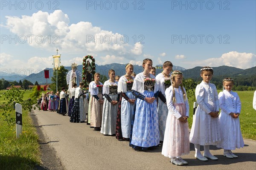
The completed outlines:
<svg viewBox="0 0 256 170">
<path fill-rule="evenodd" d="M 196 86 L 195 96 L 198 103 L 190 131 L 189 141 L 193 144 L 216 145 L 221 140 L 219 118 L 209 115 L 219 111 L 216 86 L 202 81 Z"/>
</svg>

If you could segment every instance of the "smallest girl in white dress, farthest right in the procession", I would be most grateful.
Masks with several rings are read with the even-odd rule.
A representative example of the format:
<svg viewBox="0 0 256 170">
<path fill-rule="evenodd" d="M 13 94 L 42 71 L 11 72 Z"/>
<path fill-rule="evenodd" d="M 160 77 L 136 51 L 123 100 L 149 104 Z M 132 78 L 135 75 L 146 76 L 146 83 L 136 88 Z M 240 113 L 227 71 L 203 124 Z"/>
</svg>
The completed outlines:
<svg viewBox="0 0 256 170">
<path fill-rule="evenodd" d="M 232 91 L 234 80 L 225 78 L 223 80 L 224 90 L 218 94 L 220 101 L 220 126 L 221 142 L 217 147 L 224 149 L 224 156 L 227 158 L 237 158 L 231 150 L 244 147 L 244 140 L 241 134 L 239 115 L 241 112 L 241 102 L 236 92 Z"/>
</svg>

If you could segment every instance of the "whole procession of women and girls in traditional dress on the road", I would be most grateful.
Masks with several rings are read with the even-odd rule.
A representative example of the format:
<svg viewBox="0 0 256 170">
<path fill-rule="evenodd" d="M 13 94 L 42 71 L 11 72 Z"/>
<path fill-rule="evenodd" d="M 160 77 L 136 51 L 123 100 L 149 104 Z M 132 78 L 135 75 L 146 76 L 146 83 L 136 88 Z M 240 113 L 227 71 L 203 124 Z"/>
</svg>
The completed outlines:
<svg viewBox="0 0 256 170">
<path fill-rule="evenodd" d="M 241 102 L 232 91 L 234 80 L 223 79 L 224 90 L 218 94 L 215 85 L 210 83 L 213 69 L 201 69 L 203 80 L 195 89 L 198 106 L 189 134 L 189 102 L 182 85 L 182 72 L 173 71 L 172 62 L 166 61 L 163 71 L 155 77 L 152 64 L 151 59 L 144 59 L 144 71 L 136 76 L 131 64 L 125 66 L 126 74 L 121 77 L 116 77 L 111 69 L 104 84 L 99 81 L 100 74 L 95 73 L 88 92 L 82 91 L 83 82 L 79 87 L 73 84 L 69 106 L 65 88 L 59 96 L 52 91 L 43 98 L 49 99 L 49 111 L 68 113 L 70 122 L 87 120 L 90 127 L 104 135 L 130 141 L 134 150 L 151 150 L 161 143 L 162 154 L 169 157 L 172 164 L 188 164 L 181 156 L 189 154 L 189 143 L 195 144 L 195 158 L 201 161 L 218 159 L 210 153 L 209 145 L 223 148 L 227 158 L 237 158 L 231 150 L 243 147 L 244 141 L 239 122 Z M 42 110 L 44 107 L 47 105 L 42 104 Z M 200 145 L 204 146 L 204 154 L 200 152 Z"/>
</svg>

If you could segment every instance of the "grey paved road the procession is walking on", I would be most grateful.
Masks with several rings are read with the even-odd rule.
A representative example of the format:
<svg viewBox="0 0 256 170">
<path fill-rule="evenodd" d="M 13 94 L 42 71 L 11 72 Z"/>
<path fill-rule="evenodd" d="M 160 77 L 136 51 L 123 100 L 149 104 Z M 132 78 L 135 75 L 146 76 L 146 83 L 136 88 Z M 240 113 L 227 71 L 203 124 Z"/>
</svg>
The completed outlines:
<svg viewBox="0 0 256 170">
<path fill-rule="evenodd" d="M 36 110 L 32 114 L 66 170 L 256 170 L 256 141 L 253 140 L 244 139 L 244 148 L 234 151 L 239 156 L 236 159 L 224 157 L 222 149 L 211 146 L 211 153 L 219 158 L 217 161 L 195 159 L 195 149 L 190 144 L 190 154 L 183 156 L 189 164 L 177 166 L 161 154 L 162 147 L 135 151 L 128 142 L 104 136 L 86 123 L 70 123 L 69 116 Z"/>
</svg>

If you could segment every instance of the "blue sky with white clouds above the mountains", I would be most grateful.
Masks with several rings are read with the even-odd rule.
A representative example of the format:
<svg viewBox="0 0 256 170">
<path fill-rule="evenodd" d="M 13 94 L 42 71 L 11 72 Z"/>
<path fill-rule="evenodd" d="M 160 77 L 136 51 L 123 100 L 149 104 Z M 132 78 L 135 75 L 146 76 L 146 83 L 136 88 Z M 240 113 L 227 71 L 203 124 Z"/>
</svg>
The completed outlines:
<svg viewBox="0 0 256 170">
<path fill-rule="evenodd" d="M 1 1 L 4 72 L 52 68 L 56 48 L 64 66 L 81 65 L 85 55 L 93 55 L 98 65 L 141 65 L 151 58 L 153 65 L 169 60 L 186 69 L 256 66 L 255 0 L 11 3 Z M 91 40 L 95 36 L 98 40 Z"/>
</svg>

